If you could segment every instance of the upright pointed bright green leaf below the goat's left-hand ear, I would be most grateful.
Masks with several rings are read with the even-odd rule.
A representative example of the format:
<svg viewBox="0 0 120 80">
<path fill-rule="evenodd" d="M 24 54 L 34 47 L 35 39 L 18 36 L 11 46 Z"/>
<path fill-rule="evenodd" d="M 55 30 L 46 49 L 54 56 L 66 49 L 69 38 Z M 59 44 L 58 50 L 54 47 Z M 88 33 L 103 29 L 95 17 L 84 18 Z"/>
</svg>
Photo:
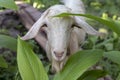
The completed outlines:
<svg viewBox="0 0 120 80">
<path fill-rule="evenodd" d="M 23 80 L 48 80 L 47 73 L 31 46 L 18 38 L 17 63 Z"/>
</svg>

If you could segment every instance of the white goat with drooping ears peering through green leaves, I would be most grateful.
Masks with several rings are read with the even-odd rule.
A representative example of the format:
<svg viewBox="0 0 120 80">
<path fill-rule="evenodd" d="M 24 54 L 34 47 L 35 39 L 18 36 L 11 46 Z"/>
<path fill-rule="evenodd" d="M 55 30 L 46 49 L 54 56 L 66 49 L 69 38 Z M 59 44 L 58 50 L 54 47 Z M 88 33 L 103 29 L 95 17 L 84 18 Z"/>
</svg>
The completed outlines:
<svg viewBox="0 0 120 80">
<path fill-rule="evenodd" d="M 84 14 L 81 0 L 62 0 L 64 5 L 54 5 L 47 9 L 39 20 L 32 26 L 23 40 L 34 38 L 40 29 L 47 34 L 46 53 L 52 62 L 52 69 L 59 72 L 72 53 L 80 49 L 86 33 L 99 35 L 83 17 L 53 17 L 61 13 Z"/>
</svg>

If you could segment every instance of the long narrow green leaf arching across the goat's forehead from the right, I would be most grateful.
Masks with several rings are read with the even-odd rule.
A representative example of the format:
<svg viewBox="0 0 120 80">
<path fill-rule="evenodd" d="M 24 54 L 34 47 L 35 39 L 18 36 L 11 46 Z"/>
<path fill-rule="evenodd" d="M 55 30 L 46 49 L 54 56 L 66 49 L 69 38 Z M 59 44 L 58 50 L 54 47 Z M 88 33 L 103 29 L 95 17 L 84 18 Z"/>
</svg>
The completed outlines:
<svg viewBox="0 0 120 80">
<path fill-rule="evenodd" d="M 114 21 L 111 19 L 105 20 L 105 19 L 93 16 L 93 15 L 89 15 L 89 14 L 62 13 L 62 14 L 56 15 L 55 17 L 64 17 L 64 16 L 70 16 L 70 15 L 72 15 L 72 16 L 84 16 L 84 17 L 87 17 L 90 19 L 94 19 L 94 20 L 108 26 L 110 29 L 112 29 L 114 32 L 116 32 L 120 36 L 120 21 Z"/>
</svg>

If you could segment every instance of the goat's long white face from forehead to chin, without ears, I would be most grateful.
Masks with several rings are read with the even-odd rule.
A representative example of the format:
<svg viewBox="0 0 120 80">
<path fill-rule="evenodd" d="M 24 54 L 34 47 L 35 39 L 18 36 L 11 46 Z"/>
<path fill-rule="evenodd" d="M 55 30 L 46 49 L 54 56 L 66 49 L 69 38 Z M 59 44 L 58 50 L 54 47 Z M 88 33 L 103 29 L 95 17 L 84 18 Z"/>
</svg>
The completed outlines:
<svg viewBox="0 0 120 80">
<path fill-rule="evenodd" d="M 51 47 L 52 57 L 57 61 L 62 61 L 66 56 L 72 23 L 73 19 L 70 17 L 52 17 L 47 20 L 47 25 L 49 25 L 47 30 L 48 43 Z"/>
</svg>

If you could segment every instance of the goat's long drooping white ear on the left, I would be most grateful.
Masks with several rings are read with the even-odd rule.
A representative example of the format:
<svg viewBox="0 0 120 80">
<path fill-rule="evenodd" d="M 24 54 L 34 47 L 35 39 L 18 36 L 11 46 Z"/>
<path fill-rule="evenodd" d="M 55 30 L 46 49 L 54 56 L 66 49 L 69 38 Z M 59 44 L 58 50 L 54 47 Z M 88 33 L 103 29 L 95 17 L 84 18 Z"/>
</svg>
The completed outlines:
<svg viewBox="0 0 120 80">
<path fill-rule="evenodd" d="M 50 10 L 48 9 L 41 15 L 41 17 L 33 24 L 32 28 L 26 33 L 26 35 L 21 37 L 22 40 L 32 39 L 38 34 L 40 28 L 45 24 L 45 17 L 49 11 Z"/>
</svg>

